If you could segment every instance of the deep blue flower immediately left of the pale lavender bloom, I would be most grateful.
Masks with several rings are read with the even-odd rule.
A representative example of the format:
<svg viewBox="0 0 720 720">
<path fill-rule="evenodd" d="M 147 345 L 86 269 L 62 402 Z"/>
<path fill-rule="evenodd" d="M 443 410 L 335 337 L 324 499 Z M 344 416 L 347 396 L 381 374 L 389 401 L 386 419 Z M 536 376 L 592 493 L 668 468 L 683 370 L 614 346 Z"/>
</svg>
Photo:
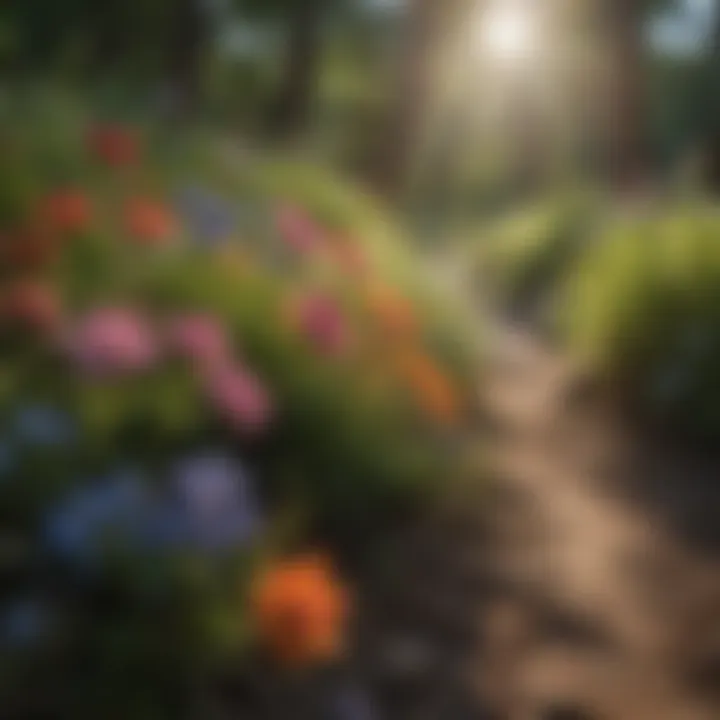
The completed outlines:
<svg viewBox="0 0 720 720">
<path fill-rule="evenodd" d="M 150 498 L 141 478 L 122 471 L 82 488 L 51 511 L 50 547 L 70 560 L 90 561 L 107 542 L 139 546 L 145 539 Z"/>
</svg>

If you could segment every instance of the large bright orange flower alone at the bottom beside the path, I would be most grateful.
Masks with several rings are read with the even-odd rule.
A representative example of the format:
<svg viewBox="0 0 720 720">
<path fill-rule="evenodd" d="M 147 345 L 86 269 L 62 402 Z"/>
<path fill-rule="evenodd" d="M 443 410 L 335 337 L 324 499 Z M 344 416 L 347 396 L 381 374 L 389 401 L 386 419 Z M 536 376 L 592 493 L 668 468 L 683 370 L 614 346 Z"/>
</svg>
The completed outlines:
<svg viewBox="0 0 720 720">
<path fill-rule="evenodd" d="M 263 645 L 283 665 L 329 660 L 342 650 L 348 598 L 327 559 L 281 561 L 255 579 L 252 613 Z"/>
</svg>

